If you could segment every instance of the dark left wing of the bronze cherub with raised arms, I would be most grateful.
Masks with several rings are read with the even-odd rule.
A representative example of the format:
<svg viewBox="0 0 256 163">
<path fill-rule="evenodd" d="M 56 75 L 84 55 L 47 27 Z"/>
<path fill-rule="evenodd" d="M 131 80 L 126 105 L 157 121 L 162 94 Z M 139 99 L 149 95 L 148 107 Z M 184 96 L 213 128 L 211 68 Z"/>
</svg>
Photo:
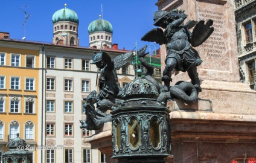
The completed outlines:
<svg viewBox="0 0 256 163">
<path fill-rule="evenodd" d="M 159 45 L 166 44 L 167 40 L 164 37 L 164 31 L 160 28 L 153 28 L 148 33 L 146 33 L 141 40 L 149 41 L 149 42 L 156 42 Z"/>
</svg>

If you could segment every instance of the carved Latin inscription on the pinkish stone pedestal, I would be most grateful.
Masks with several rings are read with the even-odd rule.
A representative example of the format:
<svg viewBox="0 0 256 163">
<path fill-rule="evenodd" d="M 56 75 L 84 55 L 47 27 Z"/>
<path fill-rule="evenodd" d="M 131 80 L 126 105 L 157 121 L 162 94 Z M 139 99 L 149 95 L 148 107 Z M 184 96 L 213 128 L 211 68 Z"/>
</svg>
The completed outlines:
<svg viewBox="0 0 256 163">
<path fill-rule="evenodd" d="M 219 11 L 209 11 L 197 9 L 197 14 L 200 20 L 213 20 L 214 32 L 211 36 L 200 45 L 203 47 L 203 55 L 207 57 L 222 58 L 226 54 L 225 39 L 223 37 L 223 16 L 225 13 Z"/>
</svg>

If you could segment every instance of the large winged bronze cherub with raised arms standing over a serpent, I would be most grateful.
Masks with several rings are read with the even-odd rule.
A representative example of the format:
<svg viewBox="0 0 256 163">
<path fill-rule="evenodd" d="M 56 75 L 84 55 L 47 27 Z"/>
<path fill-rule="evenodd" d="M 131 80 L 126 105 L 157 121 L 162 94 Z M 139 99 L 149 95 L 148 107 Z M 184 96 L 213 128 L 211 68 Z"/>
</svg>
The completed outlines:
<svg viewBox="0 0 256 163">
<path fill-rule="evenodd" d="M 154 28 L 141 38 L 144 41 L 156 42 L 159 45 L 165 44 L 166 46 L 167 56 L 162 73 L 162 81 L 164 82 L 162 92 L 170 91 L 171 71 L 173 69 L 187 71 L 191 83 L 197 89 L 197 94 L 201 91 L 196 66 L 199 66 L 202 60 L 191 45 L 199 46 L 208 39 L 214 30 L 211 27 L 213 21 L 208 20 L 206 24 L 204 21 L 188 21 L 187 24 L 182 25 L 186 18 L 187 14 L 184 14 L 184 10 L 156 11 L 154 13 L 154 25 L 163 28 L 164 31 L 161 28 Z M 189 29 L 192 27 L 194 27 L 194 30 L 191 33 Z"/>
</svg>

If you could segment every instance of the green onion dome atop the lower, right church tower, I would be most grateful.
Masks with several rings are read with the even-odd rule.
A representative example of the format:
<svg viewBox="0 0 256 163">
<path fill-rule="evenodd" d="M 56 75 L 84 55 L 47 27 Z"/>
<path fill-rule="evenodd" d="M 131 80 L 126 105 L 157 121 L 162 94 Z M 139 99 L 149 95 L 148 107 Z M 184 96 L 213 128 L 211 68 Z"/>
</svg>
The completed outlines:
<svg viewBox="0 0 256 163">
<path fill-rule="evenodd" d="M 91 24 L 89 24 L 89 27 L 88 27 L 89 34 L 94 33 L 95 31 L 105 31 L 105 32 L 113 33 L 113 28 L 110 22 L 104 19 L 97 19 L 91 22 Z"/>
</svg>

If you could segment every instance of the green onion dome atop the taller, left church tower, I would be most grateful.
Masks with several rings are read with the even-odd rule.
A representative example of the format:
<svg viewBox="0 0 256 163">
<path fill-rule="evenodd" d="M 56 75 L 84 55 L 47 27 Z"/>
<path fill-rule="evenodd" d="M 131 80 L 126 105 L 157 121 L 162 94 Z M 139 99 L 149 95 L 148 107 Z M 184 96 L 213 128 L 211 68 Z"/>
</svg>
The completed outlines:
<svg viewBox="0 0 256 163">
<path fill-rule="evenodd" d="M 66 4 L 65 4 L 65 8 L 62 8 L 53 14 L 52 19 L 53 19 L 53 24 L 59 21 L 69 21 L 69 22 L 75 22 L 79 24 L 77 13 L 75 13 L 75 11 L 69 8 L 66 8 Z"/>
</svg>

